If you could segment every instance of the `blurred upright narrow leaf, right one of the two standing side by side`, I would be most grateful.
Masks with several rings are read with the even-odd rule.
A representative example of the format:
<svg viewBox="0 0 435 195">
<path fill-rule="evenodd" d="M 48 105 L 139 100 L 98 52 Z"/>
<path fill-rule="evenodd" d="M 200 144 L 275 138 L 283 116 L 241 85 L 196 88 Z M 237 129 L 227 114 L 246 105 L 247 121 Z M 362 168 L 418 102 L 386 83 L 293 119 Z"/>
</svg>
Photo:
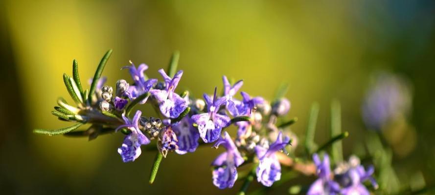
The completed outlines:
<svg viewBox="0 0 435 195">
<path fill-rule="evenodd" d="M 333 100 L 331 103 L 331 138 L 342 133 L 341 105 L 338 100 Z M 335 163 L 343 161 L 343 146 L 342 141 L 337 141 L 332 144 L 331 155 Z"/>
</svg>

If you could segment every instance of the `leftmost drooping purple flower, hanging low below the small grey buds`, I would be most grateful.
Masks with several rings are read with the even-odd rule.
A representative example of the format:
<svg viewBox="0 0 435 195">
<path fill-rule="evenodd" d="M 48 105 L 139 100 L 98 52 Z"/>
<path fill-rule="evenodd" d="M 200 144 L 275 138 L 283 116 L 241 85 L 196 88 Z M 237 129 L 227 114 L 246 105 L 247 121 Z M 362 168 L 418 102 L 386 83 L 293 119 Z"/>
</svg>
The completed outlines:
<svg viewBox="0 0 435 195">
<path fill-rule="evenodd" d="M 120 125 L 115 130 L 117 131 L 121 128 L 127 128 L 131 131 L 131 134 L 125 136 L 124 142 L 121 147 L 118 148 L 118 153 L 121 155 L 124 162 L 135 161 L 135 159 L 141 154 L 140 146 L 150 143 L 148 137 L 143 135 L 138 127 L 138 121 L 141 114 L 140 111 L 137 111 L 133 120 L 125 117 L 123 114 L 122 118 L 124 119 L 125 124 Z"/>
</svg>

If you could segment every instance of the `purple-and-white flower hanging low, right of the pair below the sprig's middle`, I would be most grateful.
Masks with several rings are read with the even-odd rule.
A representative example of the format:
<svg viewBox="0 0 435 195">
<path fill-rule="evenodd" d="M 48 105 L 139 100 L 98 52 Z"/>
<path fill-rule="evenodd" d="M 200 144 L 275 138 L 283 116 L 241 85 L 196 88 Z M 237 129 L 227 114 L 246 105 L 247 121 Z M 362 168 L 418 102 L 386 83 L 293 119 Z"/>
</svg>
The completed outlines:
<svg viewBox="0 0 435 195">
<path fill-rule="evenodd" d="M 255 146 L 255 152 L 260 160 L 256 170 L 258 182 L 265 186 L 272 186 L 275 181 L 281 179 L 281 165 L 275 152 L 285 150 L 288 144 L 290 144 L 290 138 L 285 137 L 283 140 L 282 133 L 279 132 L 276 141 L 268 149 L 259 145 Z"/>
</svg>

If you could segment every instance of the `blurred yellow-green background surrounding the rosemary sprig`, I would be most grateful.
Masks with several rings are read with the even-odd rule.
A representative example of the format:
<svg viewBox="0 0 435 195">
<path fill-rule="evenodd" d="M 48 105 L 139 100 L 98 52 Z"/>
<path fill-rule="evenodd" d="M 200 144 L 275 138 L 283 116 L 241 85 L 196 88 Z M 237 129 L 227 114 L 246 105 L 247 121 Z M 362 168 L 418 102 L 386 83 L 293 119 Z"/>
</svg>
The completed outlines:
<svg viewBox="0 0 435 195">
<path fill-rule="evenodd" d="M 103 75 L 111 86 L 130 77 L 120 71 L 129 59 L 146 63 L 148 76 L 160 78 L 157 70 L 166 67 L 174 50 L 181 52 L 179 68 L 184 71 L 177 89 L 189 87 L 196 98 L 213 86 L 222 89 L 223 75 L 244 79 L 243 91 L 271 100 L 281 82 L 289 83 L 289 115 L 299 118 L 292 131 L 303 135 L 310 104 L 318 101 L 319 143 L 329 135 L 329 104 L 336 98 L 342 127 L 350 135 L 343 140 L 345 156 L 370 151 L 363 144 L 370 133 L 361 114 L 370 74 L 382 69 L 402 75 L 405 85 L 412 85 L 412 98 L 399 109 L 403 119 L 381 125 L 380 142 L 389 143 L 394 155 L 379 164 L 397 170 L 398 181 L 415 176 L 416 181 L 435 182 L 432 0 L 2 0 L 0 5 L 4 194 L 223 193 L 210 182 L 209 169 L 221 149 L 168 154 L 150 186 L 154 153 L 143 152 L 135 163 L 124 164 L 116 153 L 119 134 L 92 141 L 32 134 L 37 127 L 65 126 L 49 112 L 56 98 L 68 96 L 62 74 L 70 74 L 72 59 L 82 78 L 92 78 L 101 54 L 110 48 L 114 53 Z M 149 106 L 142 111 L 146 117 L 155 115 Z M 225 193 L 235 193 L 237 185 Z"/>
</svg>

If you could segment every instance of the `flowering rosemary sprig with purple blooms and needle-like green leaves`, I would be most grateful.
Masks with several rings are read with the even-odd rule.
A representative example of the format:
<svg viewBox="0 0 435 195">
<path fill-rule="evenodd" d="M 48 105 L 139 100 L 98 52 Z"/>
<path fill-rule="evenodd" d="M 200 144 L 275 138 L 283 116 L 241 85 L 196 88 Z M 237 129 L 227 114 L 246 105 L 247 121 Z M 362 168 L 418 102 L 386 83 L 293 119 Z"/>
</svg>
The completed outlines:
<svg viewBox="0 0 435 195">
<path fill-rule="evenodd" d="M 35 133 L 89 136 L 94 139 L 100 134 L 121 132 L 125 137 L 117 152 L 123 162 L 135 161 L 144 147 L 147 150 L 157 148 L 150 183 L 155 178 L 162 157 L 171 152 L 178 155 L 193 153 L 200 145 L 225 148 L 225 152 L 211 163 L 213 184 L 220 189 L 233 187 L 239 175 L 237 169 L 246 164 L 253 165 L 252 171 L 247 174 L 251 179 L 246 181 L 256 177 L 263 186 L 270 187 L 281 179 L 281 166 L 284 164 L 291 167 L 289 162 L 295 161 L 296 158 L 287 156 L 287 151 L 294 152 L 298 145 L 298 137 L 289 128 L 297 118 L 289 120 L 285 117 L 291 104 L 283 95 L 269 102 L 243 91 L 238 93 L 243 80 L 230 82 L 226 76 L 222 77 L 222 93 L 218 93 L 218 88 L 214 87 L 214 92 L 211 95 L 205 93 L 203 98 L 191 97 L 188 91 L 178 94 L 176 89 L 183 71 L 176 71 L 178 59 L 174 57 L 167 72 L 163 69 L 158 71 L 162 77 L 160 81 L 147 77 L 147 65 L 140 64 L 136 67 L 130 61 L 121 70 L 129 70 L 132 82 L 119 79 L 114 90 L 111 86 L 104 85 L 106 78 L 101 77 L 110 54 L 111 51 L 101 60 L 94 78 L 89 82 L 90 90 L 83 90 L 75 60 L 73 77 L 64 75 L 65 85 L 77 106 L 72 106 L 61 98 L 52 114 L 76 124 L 57 130 L 38 129 Z M 151 105 L 158 117 L 142 116 L 140 110 L 136 110 L 134 116 L 130 117 L 137 104 Z M 88 123 L 91 124 L 89 129 L 74 131 Z M 234 126 L 237 131 L 231 132 L 230 126 Z M 154 147 L 143 146 L 148 144 Z M 363 181 L 370 180 L 376 186 L 371 177 L 373 168 L 365 170 L 355 157 L 337 166 L 334 173 L 331 173 L 327 155 L 323 161 L 314 155 L 313 161 L 319 179 L 311 185 L 309 195 L 366 195 L 368 191 L 362 184 Z M 295 165 L 295 169 L 309 167 L 310 163 Z M 310 173 L 309 169 L 300 172 Z"/>
</svg>

